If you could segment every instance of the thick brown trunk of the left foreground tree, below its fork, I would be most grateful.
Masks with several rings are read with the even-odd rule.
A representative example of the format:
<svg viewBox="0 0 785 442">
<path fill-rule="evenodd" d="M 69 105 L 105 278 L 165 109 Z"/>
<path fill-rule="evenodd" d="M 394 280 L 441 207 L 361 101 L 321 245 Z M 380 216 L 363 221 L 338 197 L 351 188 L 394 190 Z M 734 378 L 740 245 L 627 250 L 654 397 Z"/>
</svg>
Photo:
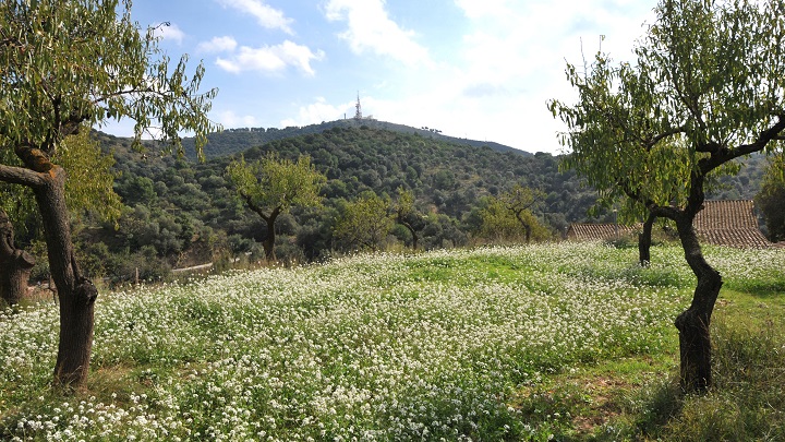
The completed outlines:
<svg viewBox="0 0 785 442">
<path fill-rule="evenodd" d="M 60 344 L 55 384 L 72 389 L 87 378 L 98 290 L 89 279 L 82 277 L 74 259 L 64 200 L 65 171 L 53 166 L 39 176 L 43 184 L 33 191 L 44 222 L 49 270 L 60 298 Z"/>
</svg>

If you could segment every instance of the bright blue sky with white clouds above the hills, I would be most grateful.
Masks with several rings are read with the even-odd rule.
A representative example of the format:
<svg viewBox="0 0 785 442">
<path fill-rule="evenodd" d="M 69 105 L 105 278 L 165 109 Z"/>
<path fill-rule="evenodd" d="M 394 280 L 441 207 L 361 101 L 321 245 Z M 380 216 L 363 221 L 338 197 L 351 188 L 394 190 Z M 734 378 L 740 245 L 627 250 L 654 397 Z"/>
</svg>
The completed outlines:
<svg viewBox="0 0 785 442">
<path fill-rule="evenodd" d="M 202 60 L 225 129 L 365 117 L 558 154 L 567 62 L 631 60 L 652 0 L 135 0 L 173 60 Z M 102 130 L 130 136 L 128 122 Z M 208 147 L 209 148 L 209 147 Z"/>
</svg>

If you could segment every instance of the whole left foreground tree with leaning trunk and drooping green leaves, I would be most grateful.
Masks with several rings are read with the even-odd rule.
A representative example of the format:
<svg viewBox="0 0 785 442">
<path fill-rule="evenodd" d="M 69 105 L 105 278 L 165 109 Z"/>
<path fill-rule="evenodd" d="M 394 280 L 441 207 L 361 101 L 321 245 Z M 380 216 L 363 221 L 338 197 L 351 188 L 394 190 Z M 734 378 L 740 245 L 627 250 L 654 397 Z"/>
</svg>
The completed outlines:
<svg viewBox="0 0 785 442">
<path fill-rule="evenodd" d="M 74 256 L 67 174 L 55 158 L 68 135 L 110 118 L 135 121 L 136 145 L 148 133 L 178 152 L 179 131 L 193 130 L 201 152 L 216 129 L 206 112 L 217 91 L 198 93 L 204 69 L 188 77 L 186 61 L 169 64 L 156 29 L 131 20 L 130 0 L 0 3 L 0 150 L 14 156 L 0 164 L 0 181 L 29 188 L 40 214 L 60 298 L 56 385 L 87 375 L 98 291 Z"/>
</svg>

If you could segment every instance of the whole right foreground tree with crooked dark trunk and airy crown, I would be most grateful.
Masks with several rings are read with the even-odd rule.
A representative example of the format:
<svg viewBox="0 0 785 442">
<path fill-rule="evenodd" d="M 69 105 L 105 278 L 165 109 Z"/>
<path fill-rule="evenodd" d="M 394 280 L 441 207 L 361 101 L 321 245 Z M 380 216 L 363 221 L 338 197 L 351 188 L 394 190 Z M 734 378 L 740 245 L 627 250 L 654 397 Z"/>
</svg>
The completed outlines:
<svg viewBox="0 0 785 442">
<path fill-rule="evenodd" d="M 698 283 L 676 319 L 685 391 L 712 384 L 709 326 L 723 280 L 692 222 L 704 186 L 735 158 L 774 153 L 785 134 L 785 2 L 661 0 L 636 64 L 597 53 L 567 67 L 576 105 L 551 101 L 567 124 L 565 165 L 608 201 L 627 195 L 675 222 Z"/>
</svg>

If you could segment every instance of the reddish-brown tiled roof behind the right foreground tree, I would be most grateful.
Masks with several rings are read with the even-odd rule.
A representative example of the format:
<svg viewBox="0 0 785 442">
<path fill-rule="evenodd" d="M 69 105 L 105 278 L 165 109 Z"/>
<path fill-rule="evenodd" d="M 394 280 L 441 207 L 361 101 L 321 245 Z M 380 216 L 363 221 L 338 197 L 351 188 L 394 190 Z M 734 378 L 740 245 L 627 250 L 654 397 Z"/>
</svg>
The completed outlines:
<svg viewBox="0 0 785 442">
<path fill-rule="evenodd" d="M 754 204 L 750 200 L 705 201 L 692 225 L 705 243 L 740 248 L 772 246 L 758 228 Z M 636 232 L 640 228 L 640 224 L 618 226 L 618 235 Z M 567 238 L 576 240 L 613 239 L 616 236 L 615 224 L 572 224 L 567 229 Z"/>
</svg>

